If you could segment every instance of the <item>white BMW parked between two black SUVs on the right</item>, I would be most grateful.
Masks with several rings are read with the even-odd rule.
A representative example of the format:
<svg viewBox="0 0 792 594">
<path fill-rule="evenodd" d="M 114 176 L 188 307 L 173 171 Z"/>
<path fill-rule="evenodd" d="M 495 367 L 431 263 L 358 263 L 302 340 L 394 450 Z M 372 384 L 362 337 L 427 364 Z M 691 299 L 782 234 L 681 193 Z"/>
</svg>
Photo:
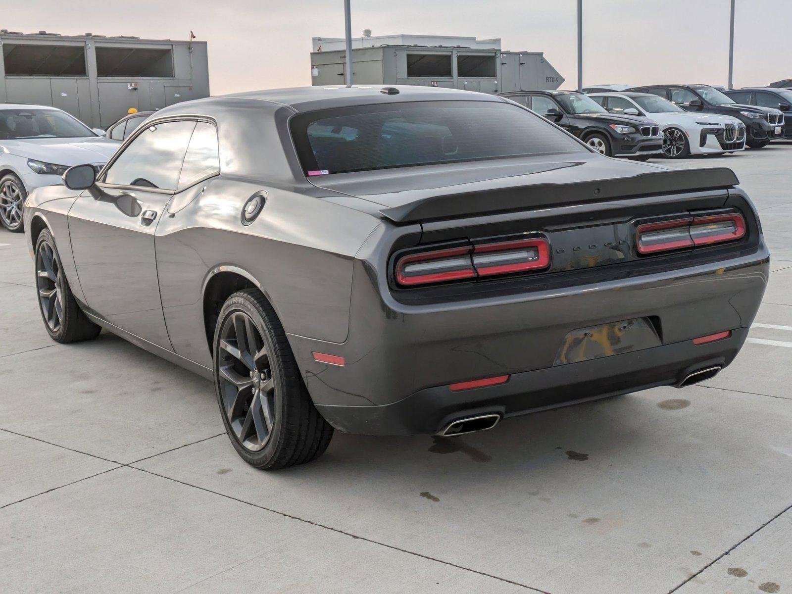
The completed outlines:
<svg viewBox="0 0 792 594">
<path fill-rule="evenodd" d="M 655 120 L 663 131 L 663 154 L 668 158 L 733 153 L 745 148 L 745 124 L 732 116 L 687 112 L 649 93 L 592 93 L 588 97 L 609 112 Z"/>
</svg>

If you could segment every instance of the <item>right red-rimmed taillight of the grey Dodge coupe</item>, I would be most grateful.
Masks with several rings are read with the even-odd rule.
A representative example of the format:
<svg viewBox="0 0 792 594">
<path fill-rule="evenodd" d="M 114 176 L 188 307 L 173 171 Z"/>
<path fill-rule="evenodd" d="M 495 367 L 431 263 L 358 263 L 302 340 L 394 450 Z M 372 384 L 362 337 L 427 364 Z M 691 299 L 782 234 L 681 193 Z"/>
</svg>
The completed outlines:
<svg viewBox="0 0 792 594">
<path fill-rule="evenodd" d="M 744 235 L 742 215 L 706 215 L 639 225 L 636 245 L 638 253 L 648 254 L 732 242 Z"/>
</svg>

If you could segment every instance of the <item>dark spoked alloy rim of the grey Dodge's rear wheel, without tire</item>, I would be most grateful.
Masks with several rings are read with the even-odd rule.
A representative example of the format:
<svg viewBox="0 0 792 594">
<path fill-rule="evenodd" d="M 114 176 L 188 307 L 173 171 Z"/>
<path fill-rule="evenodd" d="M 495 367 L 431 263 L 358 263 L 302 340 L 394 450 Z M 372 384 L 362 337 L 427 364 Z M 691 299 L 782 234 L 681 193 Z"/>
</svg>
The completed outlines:
<svg viewBox="0 0 792 594">
<path fill-rule="evenodd" d="M 234 311 L 226 318 L 217 364 L 230 428 L 243 447 L 260 451 L 275 424 L 275 381 L 266 343 L 248 314 Z"/>
</svg>

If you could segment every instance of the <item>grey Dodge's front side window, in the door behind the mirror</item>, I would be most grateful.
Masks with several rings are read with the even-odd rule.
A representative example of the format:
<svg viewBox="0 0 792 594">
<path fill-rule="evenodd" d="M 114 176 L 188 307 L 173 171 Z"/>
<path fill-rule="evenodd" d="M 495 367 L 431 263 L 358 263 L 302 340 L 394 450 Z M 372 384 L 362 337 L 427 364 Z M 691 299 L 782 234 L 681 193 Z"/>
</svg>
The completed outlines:
<svg viewBox="0 0 792 594">
<path fill-rule="evenodd" d="M 175 190 L 195 122 L 164 122 L 135 138 L 105 173 L 105 183 Z"/>
</svg>

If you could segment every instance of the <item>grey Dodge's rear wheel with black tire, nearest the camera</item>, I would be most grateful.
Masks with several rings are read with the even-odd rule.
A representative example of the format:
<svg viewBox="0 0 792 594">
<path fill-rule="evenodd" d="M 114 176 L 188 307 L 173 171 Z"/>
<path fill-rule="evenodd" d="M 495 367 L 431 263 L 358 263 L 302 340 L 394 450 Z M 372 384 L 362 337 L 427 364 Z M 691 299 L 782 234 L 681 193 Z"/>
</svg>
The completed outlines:
<svg viewBox="0 0 792 594">
<path fill-rule="evenodd" d="M 333 427 L 311 401 L 283 326 L 260 291 L 238 291 L 223 303 L 213 354 L 223 425 L 242 459 L 276 470 L 324 453 Z"/>
</svg>

